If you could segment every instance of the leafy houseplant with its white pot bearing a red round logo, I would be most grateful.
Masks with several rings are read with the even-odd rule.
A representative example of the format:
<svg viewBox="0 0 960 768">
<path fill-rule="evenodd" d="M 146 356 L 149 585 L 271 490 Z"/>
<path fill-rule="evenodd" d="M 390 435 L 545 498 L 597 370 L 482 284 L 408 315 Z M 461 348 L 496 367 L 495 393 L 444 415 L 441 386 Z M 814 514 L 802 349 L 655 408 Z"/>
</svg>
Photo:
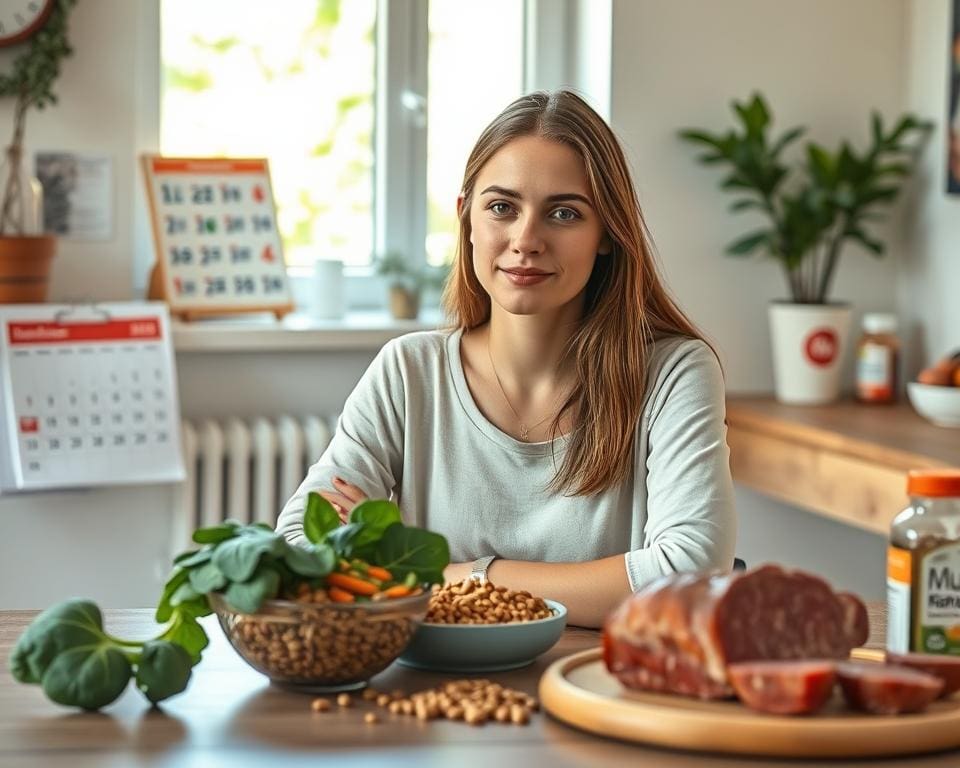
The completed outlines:
<svg viewBox="0 0 960 768">
<path fill-rule="evenodd" d="M 840 393 L 840 371 L 851 309 L 829 301 L 844 246 L 855 242 L 875 256 L 884 244 L 869 230 L 897 197 L 932 125 L 912 115 L 884 127 L 874 112 L 870 145 L 858 152 L 844 141 L 835 150 L 808 142 L 793 166 L 781 156 L 806 130 L 791 128 L 774 139 L 763 96 L 733 102 L 738 125 L 724 134 L 680 131 L 706 148 L 698 160 L 721 165 L 720 187 L 737 195 L 732 212 L 757 211 L 764 225 L 731 243 L 726 252 L 762 252 L 777 261 L 790 299 L 770 306 L 777 397 L 782 402 L 823 403 Z"/>
</svg>

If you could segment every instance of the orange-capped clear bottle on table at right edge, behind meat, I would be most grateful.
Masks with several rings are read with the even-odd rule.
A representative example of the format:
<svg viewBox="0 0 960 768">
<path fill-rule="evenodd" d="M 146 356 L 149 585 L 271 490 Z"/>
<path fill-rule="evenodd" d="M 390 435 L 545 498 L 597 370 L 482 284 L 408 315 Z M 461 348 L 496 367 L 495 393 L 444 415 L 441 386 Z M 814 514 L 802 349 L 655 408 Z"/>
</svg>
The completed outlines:
<svg viewBox="0 0 960 768">
<path fill-rule="evenodd" d="M 887 549 L 887 650 L 960 654 L 960 469 L 915 470 Z"/>
</svg>

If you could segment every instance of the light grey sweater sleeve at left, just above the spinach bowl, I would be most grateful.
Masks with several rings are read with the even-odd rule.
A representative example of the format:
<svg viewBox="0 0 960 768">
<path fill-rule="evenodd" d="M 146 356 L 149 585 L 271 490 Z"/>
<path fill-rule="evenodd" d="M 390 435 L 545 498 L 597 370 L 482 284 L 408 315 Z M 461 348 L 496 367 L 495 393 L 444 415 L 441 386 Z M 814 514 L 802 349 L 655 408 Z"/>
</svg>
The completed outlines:
<svg viewBox="0 0 960 768">
<path fill-rule="evenodd" d="M 404 389 L 399 347 L 391 341 L 350 393 L 330 444 L 284 504 L 277 531 L 286 539 L 303 539 L 307 494 L 333 490 L 334 476 L 356 485 L 368 498 L 390 497 L 403 457 Z"/>
</svg>

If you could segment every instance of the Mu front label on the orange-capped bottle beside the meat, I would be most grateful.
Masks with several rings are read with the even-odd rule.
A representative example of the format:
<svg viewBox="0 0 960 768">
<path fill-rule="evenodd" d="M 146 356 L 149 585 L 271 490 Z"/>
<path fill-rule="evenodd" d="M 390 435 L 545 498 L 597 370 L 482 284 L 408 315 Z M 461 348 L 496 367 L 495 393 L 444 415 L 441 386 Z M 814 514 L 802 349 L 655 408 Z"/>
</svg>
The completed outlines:
<svg viewBox="0 0 960 768">
<path fill-rule="evenodd" d="M 915 576 L 914 650 L 960 654 L 960 542 L 923 552 Z"/>
</svg>

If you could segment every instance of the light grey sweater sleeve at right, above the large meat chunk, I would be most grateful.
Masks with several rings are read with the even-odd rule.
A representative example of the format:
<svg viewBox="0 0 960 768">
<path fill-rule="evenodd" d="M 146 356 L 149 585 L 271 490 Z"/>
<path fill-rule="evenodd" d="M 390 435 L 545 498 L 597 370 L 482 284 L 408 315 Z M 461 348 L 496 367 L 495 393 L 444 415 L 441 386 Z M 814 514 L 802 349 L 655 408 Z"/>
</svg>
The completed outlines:
<svg viewBox="0 0 960 768">
<path fill-rule="evenodd" d="M 737 538 L 716 355 L 703 342 L 684 342 L 651 386 L 645 466 L 636 467 L 646 475 L 643 547 L 626 554 L 634 591 L 669 573 L 729 570 Z"/>
</svg>

